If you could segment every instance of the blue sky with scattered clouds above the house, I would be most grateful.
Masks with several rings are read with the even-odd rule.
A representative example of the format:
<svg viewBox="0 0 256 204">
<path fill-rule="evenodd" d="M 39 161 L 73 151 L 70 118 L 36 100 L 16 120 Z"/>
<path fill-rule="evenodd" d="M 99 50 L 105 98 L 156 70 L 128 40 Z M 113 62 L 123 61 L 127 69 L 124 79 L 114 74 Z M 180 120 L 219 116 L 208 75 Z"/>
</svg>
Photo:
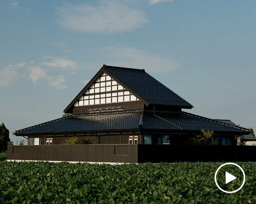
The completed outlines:
<svg viewBox="0 0 256 204">
<path fill-rule="evenodd" d="M 4 0 L 0 19 L 10 131 L 61 117 L 103 64 L 145 68 L 189 112 L 256 129 L 256 1 Z"/>
</svg>

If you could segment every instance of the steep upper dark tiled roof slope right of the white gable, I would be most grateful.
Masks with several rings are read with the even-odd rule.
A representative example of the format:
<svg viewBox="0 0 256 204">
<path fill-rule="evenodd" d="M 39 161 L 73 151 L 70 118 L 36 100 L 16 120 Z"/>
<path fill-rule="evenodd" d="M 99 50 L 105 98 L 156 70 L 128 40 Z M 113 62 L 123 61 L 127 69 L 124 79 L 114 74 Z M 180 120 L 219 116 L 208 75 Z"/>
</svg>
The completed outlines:
<svg viewBox="0 0 256 204">
<path fill-rule="evenodd" d="M 103 66 L 120 82 L 142 97 L 148 104 L 193 108 L 182 97 L 146 73 L 144 69 Z"/>
</svg>

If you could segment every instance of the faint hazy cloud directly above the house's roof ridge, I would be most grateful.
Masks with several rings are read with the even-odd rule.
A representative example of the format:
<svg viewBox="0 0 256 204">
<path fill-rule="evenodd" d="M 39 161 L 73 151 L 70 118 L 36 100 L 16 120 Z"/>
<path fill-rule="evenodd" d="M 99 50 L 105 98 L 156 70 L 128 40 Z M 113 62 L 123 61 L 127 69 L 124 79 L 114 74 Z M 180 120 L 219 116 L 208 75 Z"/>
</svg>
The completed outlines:
<svg viewBox="0 0 256 204">
<path fill-rule="evenodd" d="M 134 47 L 112 46 L 102 50 L 104 64 L 132 68 L 144 68 L 152 72 L 174 71 L 179 64 L 172 56 L 160 56 Z"/>
</svg>

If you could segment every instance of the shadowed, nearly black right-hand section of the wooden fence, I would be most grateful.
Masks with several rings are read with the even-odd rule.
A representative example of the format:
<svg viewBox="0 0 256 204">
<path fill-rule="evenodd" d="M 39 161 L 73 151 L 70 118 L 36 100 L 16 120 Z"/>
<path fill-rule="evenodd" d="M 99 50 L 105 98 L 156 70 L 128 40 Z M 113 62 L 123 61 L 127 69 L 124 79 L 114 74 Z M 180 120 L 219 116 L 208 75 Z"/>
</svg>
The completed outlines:
<svg viewBox="0 0 256 204">
<path fill-rule="evenodd" d="M 256 146 L 138 145 L 138 163 L 256 162 Z"/>
</svg>

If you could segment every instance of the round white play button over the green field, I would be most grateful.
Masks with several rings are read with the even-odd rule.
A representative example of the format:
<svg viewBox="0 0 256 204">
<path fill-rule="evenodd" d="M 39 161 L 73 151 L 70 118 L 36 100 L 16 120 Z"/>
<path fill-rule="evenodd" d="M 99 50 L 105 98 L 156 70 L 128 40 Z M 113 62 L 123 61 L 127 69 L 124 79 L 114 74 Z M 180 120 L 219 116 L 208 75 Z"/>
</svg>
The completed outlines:
<svg viewBox="0 0 256 204">
<path fill-rule="evenodd" d="M 214 179 L 216 186 L 221 191 L 235 193 L 244 186 L 245 173 L 241 166 L 229 162 L 222 164 L 216 170 Z"/>
</svg>

